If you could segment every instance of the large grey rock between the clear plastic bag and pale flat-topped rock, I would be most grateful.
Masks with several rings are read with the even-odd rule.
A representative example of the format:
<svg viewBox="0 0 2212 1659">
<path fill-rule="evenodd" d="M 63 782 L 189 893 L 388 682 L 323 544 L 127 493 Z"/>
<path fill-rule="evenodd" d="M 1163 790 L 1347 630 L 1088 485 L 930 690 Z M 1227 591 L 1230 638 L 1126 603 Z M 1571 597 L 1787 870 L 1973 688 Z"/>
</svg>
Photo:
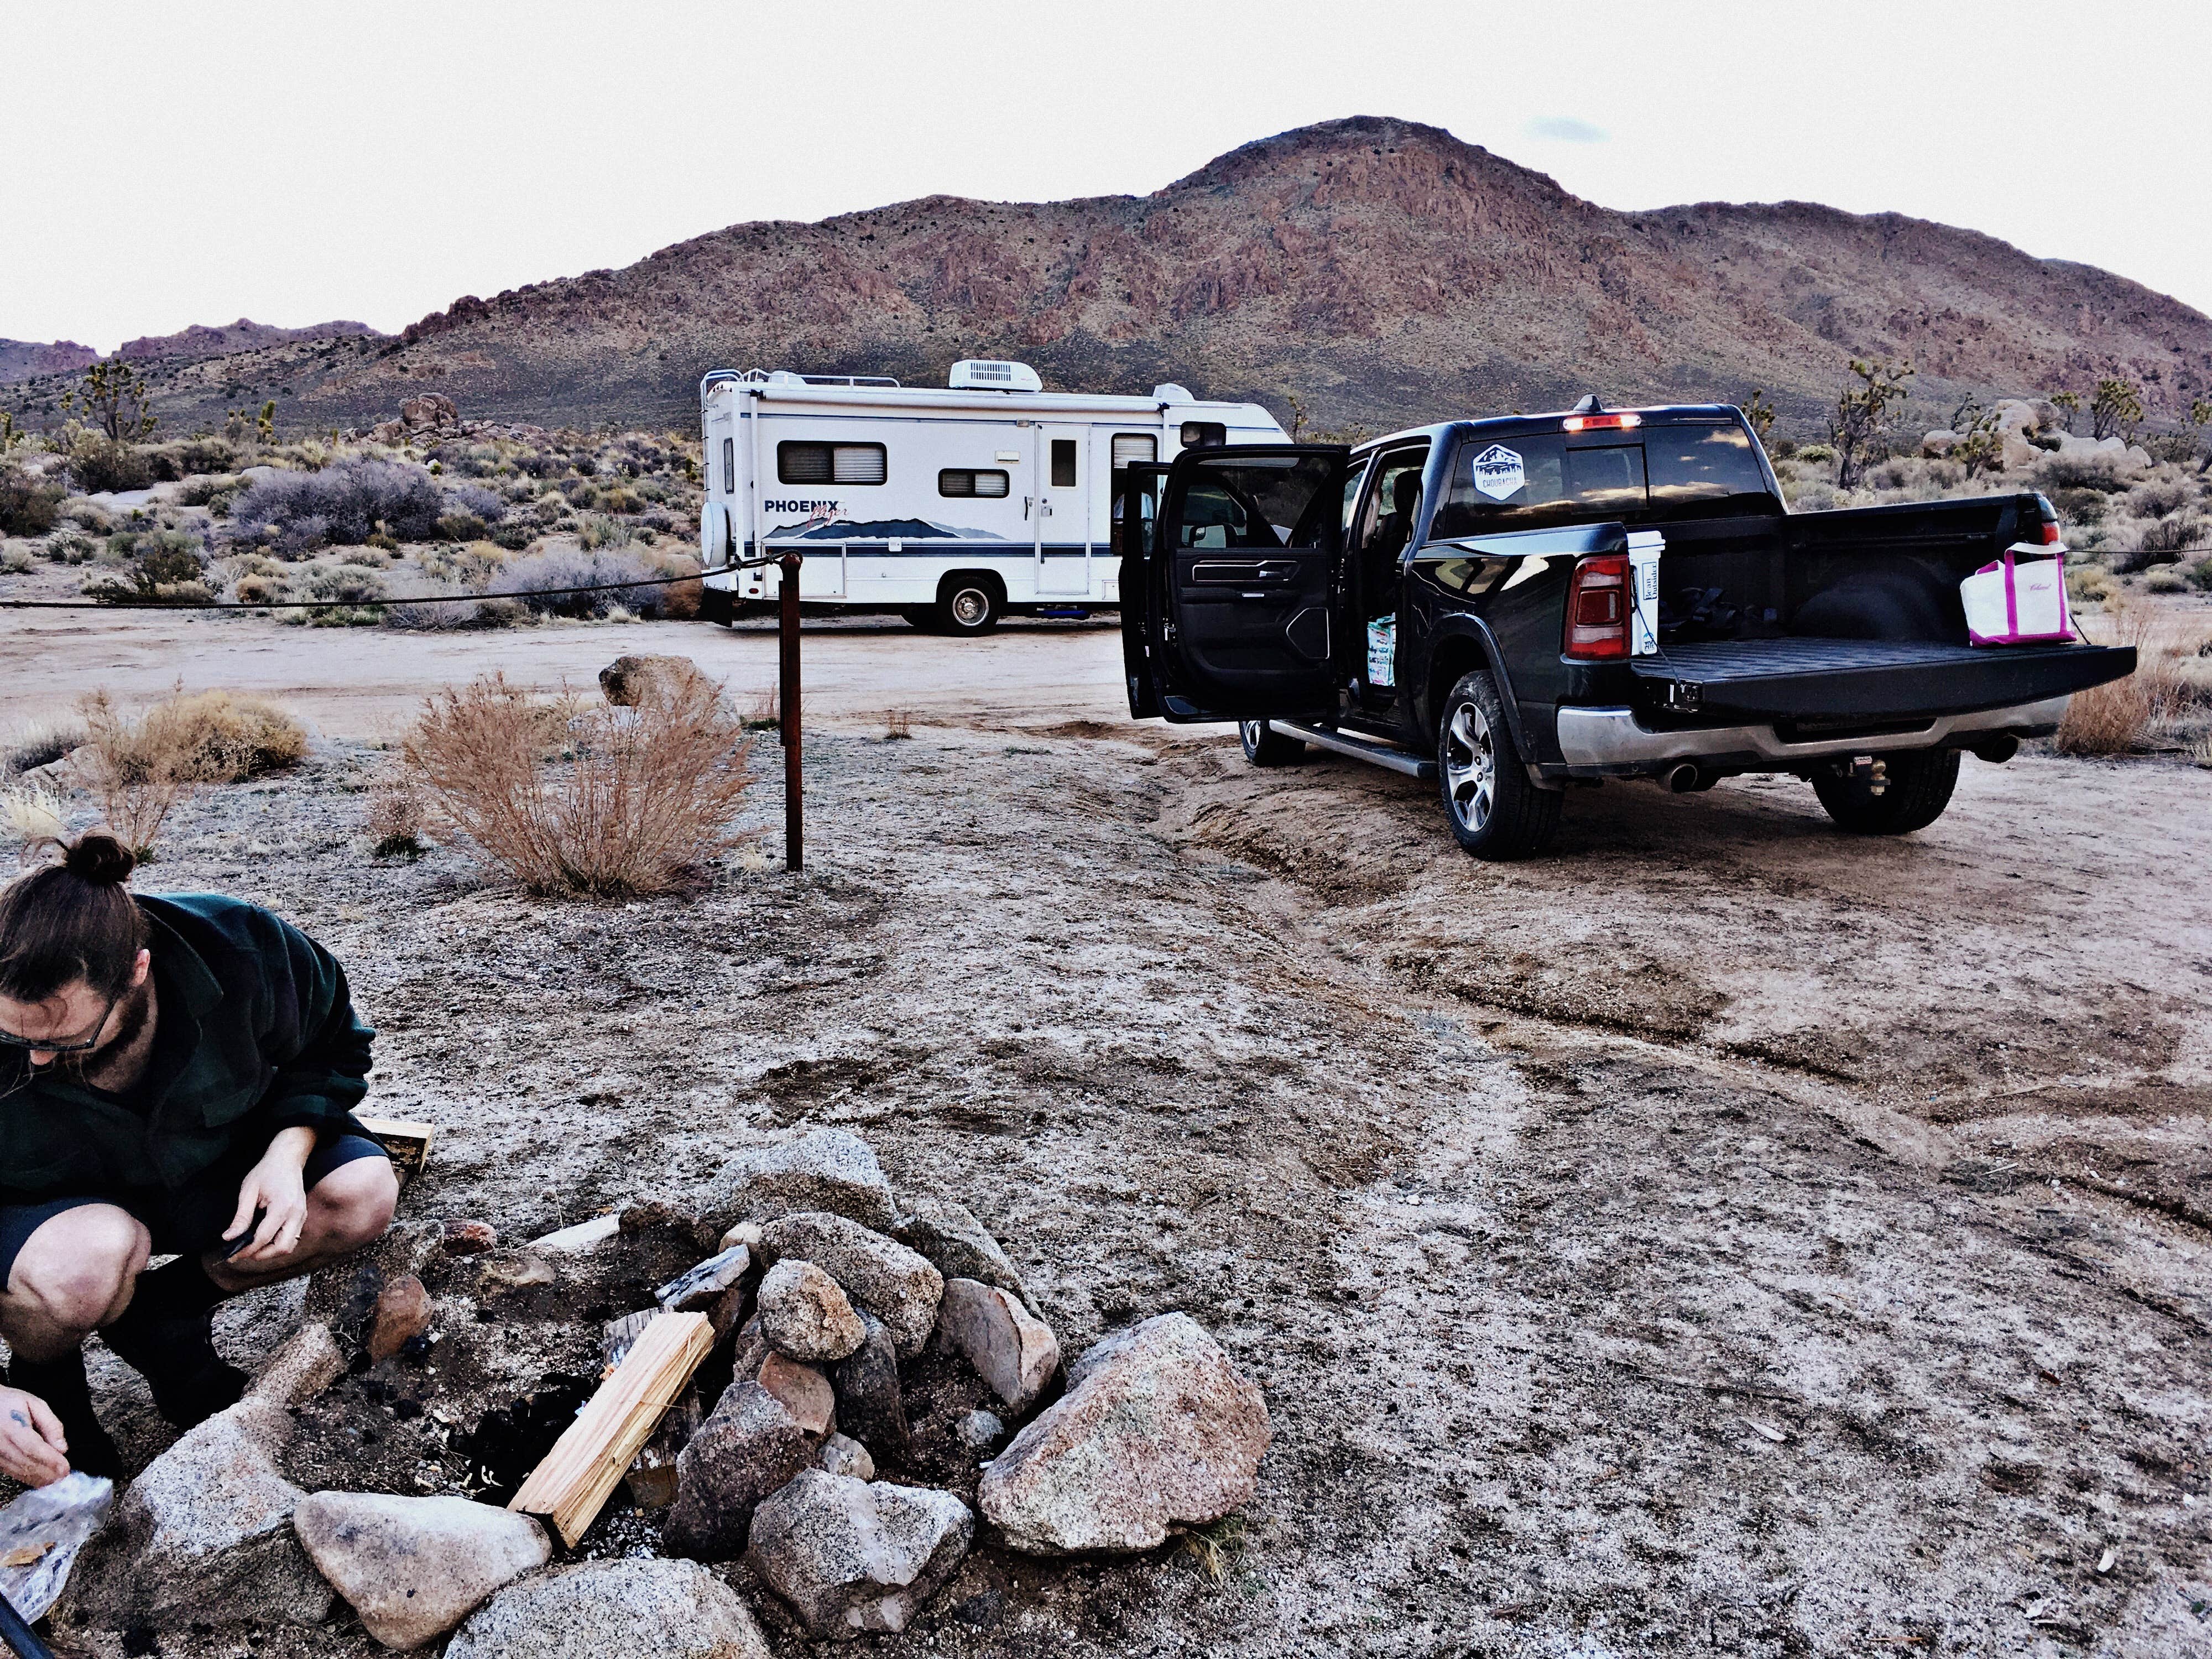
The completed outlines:
<svg viewBox="0 0 2212 1659">
<path fill-rule="evenodd" d="M 117 1548 L 82 1606 L 113 1624 L 327 1619 L 330 1584 L 292 1533 L 305 1493 L 276 1471 L 292 1433 L 257 1396 L 186 1429 L 117 1504 Z"/>
</svg>

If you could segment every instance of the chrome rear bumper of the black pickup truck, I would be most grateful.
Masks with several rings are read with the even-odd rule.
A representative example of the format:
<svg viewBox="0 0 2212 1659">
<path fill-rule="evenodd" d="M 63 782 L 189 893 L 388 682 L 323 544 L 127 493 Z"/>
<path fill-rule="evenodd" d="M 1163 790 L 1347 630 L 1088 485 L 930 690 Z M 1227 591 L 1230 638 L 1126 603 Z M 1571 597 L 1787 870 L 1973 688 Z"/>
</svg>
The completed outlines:
<svg viewBox="0 0 2212 1659">
<path fill-rule="evenodd" d="M 2066 697 L 2046 697 L 2013 708 L 1984 708 L 1973 714 L 1940 714 L 1907 730 L 1858 737 L 1823 737 L 1790 743 L 1774 726 L 1705 726 L 1692 730 L 1652 730 L 1632 708 L 1562 708 L 1559 754 L 1568 776 L 1639 776 L 1681 761 L 1739 772 L 1787 772 L 1801 761 L 1834 754 L 1882 754 L 1887 750 L 1973 748 L 1973 739 L 2048 737 L 2066 717 Z"/>
</svg>

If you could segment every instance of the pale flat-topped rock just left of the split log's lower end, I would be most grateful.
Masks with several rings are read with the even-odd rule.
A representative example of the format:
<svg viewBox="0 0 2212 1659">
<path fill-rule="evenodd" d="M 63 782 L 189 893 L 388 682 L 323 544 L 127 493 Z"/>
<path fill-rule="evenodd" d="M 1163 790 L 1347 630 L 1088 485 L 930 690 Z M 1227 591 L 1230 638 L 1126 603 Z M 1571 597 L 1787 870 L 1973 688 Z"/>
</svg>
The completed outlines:
<svg viewBox="0 0 2212 1659">
<path fill-rule="evenodd" d="M 387 1648 L 442 1637 L 502 1584 L 553 1559 L 535 1520 L 467 1498 L 319 1491 L 299 1502 L 292 1526 Z"/>
</svg>

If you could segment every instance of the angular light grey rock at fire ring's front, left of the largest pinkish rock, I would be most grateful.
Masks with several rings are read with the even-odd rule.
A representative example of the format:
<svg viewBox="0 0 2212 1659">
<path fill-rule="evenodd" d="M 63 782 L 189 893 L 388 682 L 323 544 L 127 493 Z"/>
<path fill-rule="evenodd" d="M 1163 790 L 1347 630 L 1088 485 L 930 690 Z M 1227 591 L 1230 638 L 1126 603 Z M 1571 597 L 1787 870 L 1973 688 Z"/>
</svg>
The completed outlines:
<svg viewBox="0 0 2212 1659">
<path fill-rule="evenodd" d="M 745 1562 L 807 1630 L 856 1637 L 905 1630 L 973 1537 L 949 1491 L 805 1469 L 752 1517 Z"/>
</svg>

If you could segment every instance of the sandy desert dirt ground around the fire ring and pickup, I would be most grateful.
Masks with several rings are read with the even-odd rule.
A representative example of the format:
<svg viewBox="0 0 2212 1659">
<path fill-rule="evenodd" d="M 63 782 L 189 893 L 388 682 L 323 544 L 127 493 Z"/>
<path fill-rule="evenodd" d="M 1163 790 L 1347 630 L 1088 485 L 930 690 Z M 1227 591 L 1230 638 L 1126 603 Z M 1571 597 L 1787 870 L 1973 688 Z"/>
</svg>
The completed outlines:
<svg viewBox="0 0 2212 1659">
<path fill-rule="evenodd" d="M 1066 1352 L 1181 1307 L 1263 1385 L 1219 1579 L 984 1540 L 874 1650 L 2212 1650 L 2208 772 L 1966 761 L 1896 843 L 1787 779 L 1606 787 L 1498 867 L 1407 779 L 1119 719 L 1110 630 L 849 624 L 807 637 L 805 874 L 770 834 L 692 900 L 611 907 L 456 847 L 376 863 L 365 739 L 484 666 L 582 686 L 684 650 L 745 692 L 772 635 L 93 628 L 11 626 L 0 719 L 184 672 L 321 726 L 299 774 L 186 807 L 142 883 L 345 960 L 372 1106 L 440 1126 L 411 1219 L 529 1237 L 836 1124 L 967 1201 Z M 445 1478 L 440 1411 L 588 1365 L 580 1301 L 480 1303 L 442 1383 L 341 1383 L 431 1405 L 387 1411 L 376 1478 Z M 135 1378 L 100 1380 L 148 1455 Z M 312 1433 L 296 1458 L 332 1478 Z M 372 1652 L 349 1624 L 252 1650 Z"/>
</svg>

